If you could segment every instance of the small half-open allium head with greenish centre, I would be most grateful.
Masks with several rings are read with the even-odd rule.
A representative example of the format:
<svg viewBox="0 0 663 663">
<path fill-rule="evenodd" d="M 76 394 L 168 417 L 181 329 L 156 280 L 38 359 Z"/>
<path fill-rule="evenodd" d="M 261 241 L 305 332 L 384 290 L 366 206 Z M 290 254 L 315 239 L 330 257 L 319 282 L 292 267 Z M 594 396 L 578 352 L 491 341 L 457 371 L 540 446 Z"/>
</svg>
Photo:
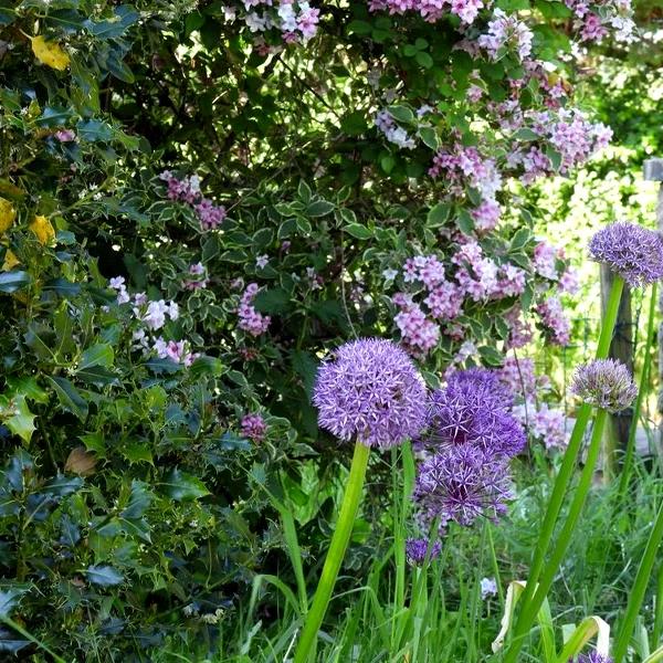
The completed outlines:
<svg viewBox="0 0 663 663">
<path fill-rule="evenodd" d="M 609 412 L 625 410 L 638 396 L 629 369 L 614 359 L 597 359 L 580 366 L 571 391 L 586 403 Z"/>
</svg>

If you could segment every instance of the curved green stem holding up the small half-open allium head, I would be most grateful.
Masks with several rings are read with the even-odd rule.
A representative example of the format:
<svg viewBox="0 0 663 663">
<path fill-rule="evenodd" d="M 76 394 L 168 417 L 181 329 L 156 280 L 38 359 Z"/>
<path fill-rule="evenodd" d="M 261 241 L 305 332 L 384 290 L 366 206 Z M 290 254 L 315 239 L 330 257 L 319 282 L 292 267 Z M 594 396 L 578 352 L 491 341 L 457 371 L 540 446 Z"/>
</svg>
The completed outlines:
<svg viewBox="0 0 663 663">
<path fill-rule="evenodd" d="M 516 631 L 514 632 L 514 639 L 512 645 L 509 646 L 506 655 L 504 657 L 504 663 L 515 663 L 516 656 L 520 648 L 523 646 L 523 642 L 525 640 L 525 635 L 532 629 L 534 621 L 538 614 L 540 607 L 546 600 L 546 594 L 552 585 L 552 580 L 555 579 L 555 575 L 561 565 L 564 556 L 571 543 L 571 537 L 573 530 L 576 529 L 576 525 L 578 524 L 578 519 L 582 512 L 582 507 L 585 506 L 585 501 L 587 498 L 587 494 L 591 488 L 591 482 L 593 477 L 594 467 L 597 465 L 597 461 L 599 460 L 599 454 L 601 452 L 601 438 L 603 436 L 603 431 L 606 430 L 606 422 L 608 421 L 608 412 L 607 410 L 598 410 L 594 417 L 593 431 L 591 433 L 591 440 L 589 442 L 589 449 L 587 451 L 587 460 L 585 463 L 585 467 L 582 467 L 582 472 L 580 474 L 580 481 L 578 482 L 578 487 L 573 493 L 573 497 L 571 499 L 571 504 L 569 506 L 569 513 L 567 515 L 567 519 L 557 537 L 557 544 L 552 548 L 552 552 L 546 564 L 544 571 L 538 581 L 538 586 L 536 587 L 536 591 L 532 598 L 532 601 L 525 606 L 519 614 L 518 623 L 516 624 Z M 527 582 L 529 585 L 529 581 Z"/>
</svg>

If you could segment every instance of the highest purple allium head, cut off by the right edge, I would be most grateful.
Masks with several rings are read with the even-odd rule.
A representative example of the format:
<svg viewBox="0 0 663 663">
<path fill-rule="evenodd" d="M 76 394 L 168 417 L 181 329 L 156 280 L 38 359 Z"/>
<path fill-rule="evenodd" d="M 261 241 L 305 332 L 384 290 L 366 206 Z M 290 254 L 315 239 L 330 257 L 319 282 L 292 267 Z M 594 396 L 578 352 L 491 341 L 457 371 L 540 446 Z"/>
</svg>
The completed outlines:
<svg viewBox="0 0 663 663">
<path fill-rule="evenodd" d="M 663 278 L 663 236 L 636 223 L 612 223 L 599 230 L 589 242 L 589 253 L 631 287 Z"/>
</svg>

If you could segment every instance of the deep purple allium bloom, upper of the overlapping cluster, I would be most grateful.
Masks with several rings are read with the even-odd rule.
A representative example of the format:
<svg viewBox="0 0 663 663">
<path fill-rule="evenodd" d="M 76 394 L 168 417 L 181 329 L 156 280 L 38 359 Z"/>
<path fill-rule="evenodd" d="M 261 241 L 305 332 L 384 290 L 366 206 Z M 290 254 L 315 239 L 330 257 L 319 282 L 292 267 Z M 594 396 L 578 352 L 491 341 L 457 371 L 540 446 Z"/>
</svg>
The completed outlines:
<svg viewBox="0 0 663 663">
<path fill-rule="evenodd" d="M 429 436 L 435 444 L 470 444 L 486 453 L 515 456 L 527 439 L 508 412 L 509 390 L 487 370 L 454 373 L 429 400 Z"/>
</svg>

